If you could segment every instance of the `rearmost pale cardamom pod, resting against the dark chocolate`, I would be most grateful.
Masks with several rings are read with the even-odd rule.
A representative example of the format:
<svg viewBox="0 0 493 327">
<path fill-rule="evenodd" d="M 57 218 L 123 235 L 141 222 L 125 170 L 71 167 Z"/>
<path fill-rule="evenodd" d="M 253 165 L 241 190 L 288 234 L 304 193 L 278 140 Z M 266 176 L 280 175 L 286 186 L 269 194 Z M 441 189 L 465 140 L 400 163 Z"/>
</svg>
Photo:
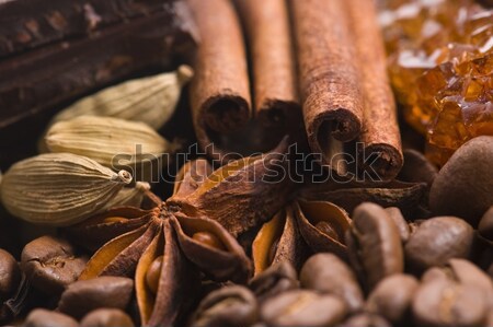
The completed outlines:
<svg viewBox="0 0 493 327">
<path fill-rule="evenodd" d="M 127 81 L 76 102 L 53 122 L 90 115 L 142 121 L 159 129 L 173 115 L 182 86 L 192 77 L 191 67 L 180 66 L 173 72 Z"/>
</svg>

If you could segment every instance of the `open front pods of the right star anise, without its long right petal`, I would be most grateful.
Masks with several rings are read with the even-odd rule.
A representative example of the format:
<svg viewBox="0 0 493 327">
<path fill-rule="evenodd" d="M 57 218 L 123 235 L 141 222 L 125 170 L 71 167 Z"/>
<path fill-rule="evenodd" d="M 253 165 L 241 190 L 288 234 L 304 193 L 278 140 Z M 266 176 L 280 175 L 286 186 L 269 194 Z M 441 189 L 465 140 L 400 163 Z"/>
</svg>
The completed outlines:
<svg viewBox="0 0 493 327">
<path fill-rule="evenodd" d="M 331 252 L 347 258 L 347 212 L 328 201 L 296 199 L 264 223 L 252 243 L 254 273 L 288 261 L 301 268 L 310 253 Z"/>
</svg>

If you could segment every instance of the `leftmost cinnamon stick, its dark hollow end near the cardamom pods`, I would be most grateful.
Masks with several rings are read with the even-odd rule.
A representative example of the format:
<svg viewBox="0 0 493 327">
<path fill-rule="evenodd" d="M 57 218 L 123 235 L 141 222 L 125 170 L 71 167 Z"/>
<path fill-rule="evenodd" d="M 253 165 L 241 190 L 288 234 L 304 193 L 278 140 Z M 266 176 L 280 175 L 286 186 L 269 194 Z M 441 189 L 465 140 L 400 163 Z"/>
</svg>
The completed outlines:
<svg viewBox="0 0 493 327">
<path fill-rule="evenodd" d="M 198 143 L 222 159 L 211 138 L 244 127 L 251 118 L 250 82 L 240 22 L 228 0 L 187 0 L 200 34 L 191 85 L 192 116 Z"/>
</svg>

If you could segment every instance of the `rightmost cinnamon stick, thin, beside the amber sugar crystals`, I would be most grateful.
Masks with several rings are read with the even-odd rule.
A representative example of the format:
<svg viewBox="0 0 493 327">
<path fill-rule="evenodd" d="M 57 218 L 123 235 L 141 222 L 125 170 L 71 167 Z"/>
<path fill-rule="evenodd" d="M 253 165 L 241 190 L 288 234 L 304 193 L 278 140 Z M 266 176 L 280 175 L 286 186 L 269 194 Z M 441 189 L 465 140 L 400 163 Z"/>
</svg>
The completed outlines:
<svg viewBox="0 0 493 327">
<path fill-rule="evenodd" d="M 367 172 L 371 178 L 390 180 L 401 170 L 403 154 L 376 3 L 370 0 L 346 0 L 346 3 L 352 17 L 365 94 L 364 129 L 359 138 L 364 143 L 364 155 L 358 156 L 362 160 L 358 171 L 360 174 Z"/>
</svg>

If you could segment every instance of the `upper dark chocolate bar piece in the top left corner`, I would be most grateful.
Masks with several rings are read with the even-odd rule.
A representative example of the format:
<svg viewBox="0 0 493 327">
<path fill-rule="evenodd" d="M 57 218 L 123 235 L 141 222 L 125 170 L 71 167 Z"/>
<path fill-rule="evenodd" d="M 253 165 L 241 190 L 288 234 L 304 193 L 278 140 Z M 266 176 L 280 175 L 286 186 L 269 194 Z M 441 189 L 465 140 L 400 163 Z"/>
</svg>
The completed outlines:
<svg viewBox="0 0 493 327">
<path fill-rule="evenodd" d="M 0 0 L 0 58 L 165 11 L 175 0 Z"/>
</svg>

